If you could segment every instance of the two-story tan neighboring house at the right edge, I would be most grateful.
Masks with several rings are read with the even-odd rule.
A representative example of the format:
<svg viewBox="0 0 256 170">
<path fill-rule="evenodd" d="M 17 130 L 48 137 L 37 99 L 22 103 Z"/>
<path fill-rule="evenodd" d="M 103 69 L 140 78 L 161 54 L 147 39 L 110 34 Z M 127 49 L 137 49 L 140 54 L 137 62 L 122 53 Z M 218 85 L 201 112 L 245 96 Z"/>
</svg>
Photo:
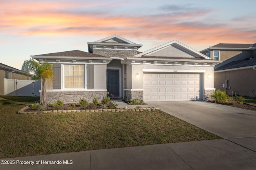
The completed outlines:
<svg viewBox="0 0 256 170">
<path fill-rule="evenodd" d="M 214 68 L 216 89 L 229 95 L 256 97 L 256 44 L 220 43 L 200 52 L 223 60 Z"/>
</svg>

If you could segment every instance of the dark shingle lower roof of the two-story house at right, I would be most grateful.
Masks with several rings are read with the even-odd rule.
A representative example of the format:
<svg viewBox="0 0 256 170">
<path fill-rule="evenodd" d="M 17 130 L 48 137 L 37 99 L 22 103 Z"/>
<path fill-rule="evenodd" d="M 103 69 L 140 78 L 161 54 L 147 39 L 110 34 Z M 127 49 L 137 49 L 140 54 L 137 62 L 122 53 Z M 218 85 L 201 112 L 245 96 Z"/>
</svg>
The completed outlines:
<svg viewBox="0 0 256 170">
<path fill-rule="evenodd" d="M 254 65 L 256 65 L 256 58 L 248 58 L 245 60 L 230 62 L 228 64 L 225 64 L 224 66 L 214 69 L 214 71 L 240 68 L 240 67 L 246 67 L 246 66 L 254 66 Z"/>
</svg>

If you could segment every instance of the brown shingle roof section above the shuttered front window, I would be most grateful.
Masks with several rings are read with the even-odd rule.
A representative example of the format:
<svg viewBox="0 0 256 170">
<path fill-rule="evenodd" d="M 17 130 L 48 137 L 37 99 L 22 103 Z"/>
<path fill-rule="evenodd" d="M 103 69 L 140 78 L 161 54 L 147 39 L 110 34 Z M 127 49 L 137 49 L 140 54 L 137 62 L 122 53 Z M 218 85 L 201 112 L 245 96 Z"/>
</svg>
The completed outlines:
<svg viewBox="0 0 256 170">
<path fill-rule="evenodd" d="M 87 53 L 80 50 L 73 50 L 73 51 L 64 51 L 59 53 L 49 53 L 49 54 L 41 54 L 35 56 L 54 56 L 54 57 L 105 57 L 102 55 L 96 55 L 92 53 Z M 109 57 L 106 57 L 109 58 Z"/>
</svg>

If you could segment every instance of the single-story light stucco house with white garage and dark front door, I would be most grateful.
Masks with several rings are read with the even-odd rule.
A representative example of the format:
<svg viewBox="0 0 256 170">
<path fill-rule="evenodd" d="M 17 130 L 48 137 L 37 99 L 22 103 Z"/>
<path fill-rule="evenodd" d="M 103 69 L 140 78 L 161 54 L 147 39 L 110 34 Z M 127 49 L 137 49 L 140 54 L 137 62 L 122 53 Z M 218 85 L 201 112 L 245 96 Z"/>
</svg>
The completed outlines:
<svg viewBox="0 0 256 170">
<path fill-rule="evenodd" d="M 142 45 L 118 35 L 88 42 L 88 53 L 74 50 L 33 55 L 54 66 L 47 101 L 102 100 L 107 92 L 126 101 L 206 100 L 214 92 L 213 71 L 220 61 L 170 41 L 143 53 Z"/>
</svg>

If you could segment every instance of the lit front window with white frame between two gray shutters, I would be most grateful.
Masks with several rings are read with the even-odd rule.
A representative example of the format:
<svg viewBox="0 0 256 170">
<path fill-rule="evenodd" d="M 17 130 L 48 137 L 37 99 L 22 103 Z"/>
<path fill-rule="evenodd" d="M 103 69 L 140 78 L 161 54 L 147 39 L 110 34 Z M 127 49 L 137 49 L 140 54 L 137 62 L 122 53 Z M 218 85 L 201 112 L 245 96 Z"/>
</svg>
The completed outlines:
<svg viewBox="0 0 256 170">
<path fill-rule="evenodd" d="M 64 65 L 64 87 L 84 88 L 84 65 Z"/>
</svg>

